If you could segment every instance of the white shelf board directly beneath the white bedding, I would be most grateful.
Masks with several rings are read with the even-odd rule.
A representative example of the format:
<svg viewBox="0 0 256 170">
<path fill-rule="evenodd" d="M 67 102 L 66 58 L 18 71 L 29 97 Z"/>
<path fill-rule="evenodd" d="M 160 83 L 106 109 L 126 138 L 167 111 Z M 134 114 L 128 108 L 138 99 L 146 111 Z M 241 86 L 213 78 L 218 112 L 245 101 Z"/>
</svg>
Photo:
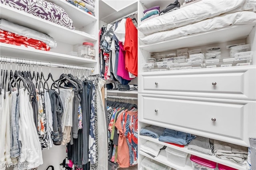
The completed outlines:
<svg viewBox="0 0 256 170">
<path fill-rule="evenodd" d="M 144 49 L 149 52 L 161 52 L 241 40 L 247 38 L 254 26 L 255 24 L 233 25 L 225 28 L 215 29 L 209 32 L 201 32 L 198 34 L 191 34 L 162 42 L 140 45 L 139 47 L 140 49 Z"/>
</svg>

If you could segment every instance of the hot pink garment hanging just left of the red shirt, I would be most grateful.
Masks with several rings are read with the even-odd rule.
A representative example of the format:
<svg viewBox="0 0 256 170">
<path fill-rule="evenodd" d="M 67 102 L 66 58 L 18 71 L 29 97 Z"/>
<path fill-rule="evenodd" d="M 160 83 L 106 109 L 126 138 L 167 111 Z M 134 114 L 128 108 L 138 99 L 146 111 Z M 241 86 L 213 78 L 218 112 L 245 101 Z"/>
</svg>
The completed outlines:
<svg viewBox="0 0 256 170">
<path fill-rule="evenodd" d="M 130 78 L 129 72 L 125 69 L 125 51 L 124 51 L 124 45 L 122 42 L 119 42 L 117 75 L 119 75 L 120 77 L 126 80 L 133 79 L 133 78 Z"/>
</svg>

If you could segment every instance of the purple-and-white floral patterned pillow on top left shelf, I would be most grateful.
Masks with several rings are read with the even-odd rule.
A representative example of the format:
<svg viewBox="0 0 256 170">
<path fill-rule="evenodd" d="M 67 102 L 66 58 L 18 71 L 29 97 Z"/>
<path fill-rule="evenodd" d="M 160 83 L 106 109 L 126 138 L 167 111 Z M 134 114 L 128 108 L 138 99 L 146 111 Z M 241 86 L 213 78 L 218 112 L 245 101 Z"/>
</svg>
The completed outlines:
<svg viewBox="0 0 256 170">
<path fill-rule="evenodd" d="M 32 14 L 44 20 L 54 22 L 72 30 L 73 21 L 59 6 L 44 0 L 1 0 L 1 4 Z"/>
</svg>

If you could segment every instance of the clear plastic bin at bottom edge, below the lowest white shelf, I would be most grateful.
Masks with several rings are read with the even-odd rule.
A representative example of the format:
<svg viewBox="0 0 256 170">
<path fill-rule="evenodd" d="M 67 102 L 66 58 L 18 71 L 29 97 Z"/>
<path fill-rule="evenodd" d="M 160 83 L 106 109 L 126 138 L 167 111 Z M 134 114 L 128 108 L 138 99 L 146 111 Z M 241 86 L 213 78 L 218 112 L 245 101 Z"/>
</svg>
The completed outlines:
<svg viewBox="0 0 256 170">
<path fill-rule="evenodd" d="M 172 170 L 171 167 L 145 157 L 141 162 L 142 170 Z"/>
</svg>

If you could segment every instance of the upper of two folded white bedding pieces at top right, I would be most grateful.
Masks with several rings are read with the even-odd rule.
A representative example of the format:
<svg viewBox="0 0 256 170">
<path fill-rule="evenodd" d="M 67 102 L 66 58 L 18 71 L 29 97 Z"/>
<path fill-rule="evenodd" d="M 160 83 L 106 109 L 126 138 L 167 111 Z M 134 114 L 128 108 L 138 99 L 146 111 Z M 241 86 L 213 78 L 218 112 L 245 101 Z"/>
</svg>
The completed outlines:
<svg viewBox="0 0 256 170">
<path fill-rule="evenodd" d="M 238 11 L 256 12 L 256 0 L 202 0 L 142 22 L 138 30 L 150 35 Z"/>
</svg>

